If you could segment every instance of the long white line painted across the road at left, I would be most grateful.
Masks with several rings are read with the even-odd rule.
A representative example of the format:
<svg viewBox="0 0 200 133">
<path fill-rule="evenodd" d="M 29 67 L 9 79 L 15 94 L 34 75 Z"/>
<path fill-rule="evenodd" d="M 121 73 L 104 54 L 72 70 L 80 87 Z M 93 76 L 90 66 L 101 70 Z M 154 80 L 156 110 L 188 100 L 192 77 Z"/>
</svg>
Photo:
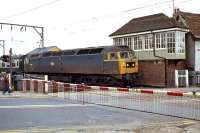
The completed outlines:
<svg viewBox="0 0 200 133">
<path fill-rule="evenodd" d="M 60 108 L 60 107 L 79 107 L 92 106 L 83 104 L 60 104 L 60 105 L 14 105 L 14 106 L 0 106 L 0 109 L 18 109 L 18 108 Z"/>
</svg>

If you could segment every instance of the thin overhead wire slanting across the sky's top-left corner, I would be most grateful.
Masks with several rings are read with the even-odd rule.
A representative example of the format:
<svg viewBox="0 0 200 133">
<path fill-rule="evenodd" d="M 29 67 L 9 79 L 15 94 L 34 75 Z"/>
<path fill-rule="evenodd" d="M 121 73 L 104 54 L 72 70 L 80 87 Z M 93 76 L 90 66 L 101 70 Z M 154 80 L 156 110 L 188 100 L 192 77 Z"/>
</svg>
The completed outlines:
<svg viewBox="0 0 200 133">
<path fill-rule="evenodd" d="M 35 11 L 35 10 L 44 8 L 44 7 L 46 7 L 46 6 L 53 5 L 53 4 L 55 4 L 55 3 L 59 2 L 59 1 L 62 1 L 62 0 L 54 0 L 54 1 L 51 1 L 51 2 L 48 2 L 48 3 L 45 3 L 45 4 L 42 4 L 42 5 L 33 7 L 33 8 L 31 8 L 31 9 L 27 9 L 27 10 L 24 10 L 24 11 L 21 11 L 21 12 L 17 12 L 17 13 L 11 14 L 11 15 L 9 15 L 9 16 L 0 18 L 0 20 L 6 20 L 6 19 L 13 18 L 13 17 L 18 17 L 18 16 L 21 16 L 21 15 L 23 15 L 23 14 L 27 14 L 27 13 L 33 12 L 33 11 Z"/>
</svg>

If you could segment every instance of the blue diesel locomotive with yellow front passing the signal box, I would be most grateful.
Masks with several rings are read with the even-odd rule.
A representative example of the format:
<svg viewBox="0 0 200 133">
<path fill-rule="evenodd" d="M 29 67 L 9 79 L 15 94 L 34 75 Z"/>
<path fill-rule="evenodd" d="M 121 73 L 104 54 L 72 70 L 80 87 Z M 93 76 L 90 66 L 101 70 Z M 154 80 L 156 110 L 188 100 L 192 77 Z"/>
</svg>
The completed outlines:
<svg viewBox="0 0 200 133">
<path fill-rule="evenodd" d="M 101 46 L 26 55 L 24 73 L 90 85 L 133 85 L 138 60 L 126 46 Z"/>
</svg>

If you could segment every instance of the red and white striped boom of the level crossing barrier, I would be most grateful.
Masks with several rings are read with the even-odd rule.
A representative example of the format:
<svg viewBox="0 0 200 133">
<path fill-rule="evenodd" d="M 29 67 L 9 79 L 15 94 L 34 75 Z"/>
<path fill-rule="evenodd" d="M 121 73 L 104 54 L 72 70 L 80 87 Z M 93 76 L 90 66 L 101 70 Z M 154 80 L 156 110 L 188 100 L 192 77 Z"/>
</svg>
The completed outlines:
<svg viewBox="0 0 200 133">
<path fill-rule="evenodd" d="M 48 84 L 48 85 L 46 85 Z M 48 88 L 47 88 L 48 87 Z M 31 91 L 34 93 L 54 93 L 67 92 L 67 91 L 89 91 L 89 90 L 100 90 L 100 91 L 120 91 L 120 92 L 138 92 L 144 94 L 158 94 L 168 96 L 187 96 L 187 97 L 200 97 L 200 92 L 182 92 L 177 90 L 158 90 L 158 89 L 133 89 L 133 88 L 117 88 L 117 87 L 106 87 L 106 86 L 87 86 L 85 84 L 70 84 L 55 81 L 44 81 L 36 79 L 24 79 L 23 80 L 23 91 Z"/>
</svg>

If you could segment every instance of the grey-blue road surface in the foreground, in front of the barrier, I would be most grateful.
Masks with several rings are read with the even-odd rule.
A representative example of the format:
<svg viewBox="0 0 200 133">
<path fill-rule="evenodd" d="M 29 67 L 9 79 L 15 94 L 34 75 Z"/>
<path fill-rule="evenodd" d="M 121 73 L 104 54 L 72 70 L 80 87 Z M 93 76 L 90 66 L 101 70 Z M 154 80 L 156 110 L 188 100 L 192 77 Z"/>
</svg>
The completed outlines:
<svg viewBox="0 0 200 133">
<path fill-rule="evenodd" d="M 0 94 L 0 133 L 199 133 L 200 121 L 50 95 Z"/>
</svg>

